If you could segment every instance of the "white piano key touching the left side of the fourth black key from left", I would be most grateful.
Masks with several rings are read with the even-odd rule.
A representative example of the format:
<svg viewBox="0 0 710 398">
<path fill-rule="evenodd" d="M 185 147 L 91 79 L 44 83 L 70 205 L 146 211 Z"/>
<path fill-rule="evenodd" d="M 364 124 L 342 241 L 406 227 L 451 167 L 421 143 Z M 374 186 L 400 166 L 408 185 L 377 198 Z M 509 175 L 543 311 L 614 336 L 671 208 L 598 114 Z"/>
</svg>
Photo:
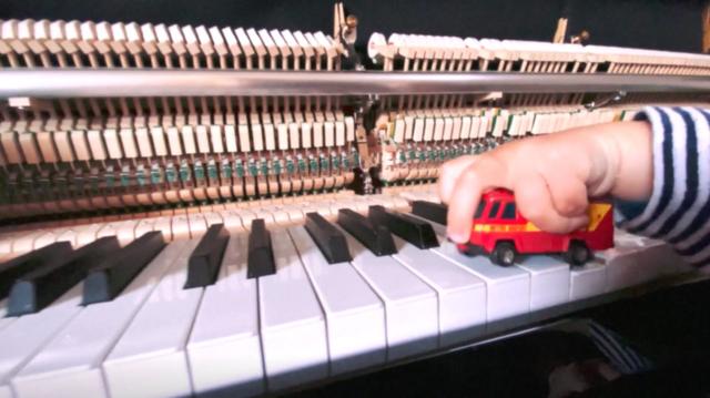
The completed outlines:
<svg viewBox="0 0 710 398">
<path fill-rule="evenodd" d="M 184 345 L 203 289 L 183 289 L 197 239 L 184 243 L 176 264 L 155 287 L 103 363 L 111 397 L 192 394 Z"/>
</svg>

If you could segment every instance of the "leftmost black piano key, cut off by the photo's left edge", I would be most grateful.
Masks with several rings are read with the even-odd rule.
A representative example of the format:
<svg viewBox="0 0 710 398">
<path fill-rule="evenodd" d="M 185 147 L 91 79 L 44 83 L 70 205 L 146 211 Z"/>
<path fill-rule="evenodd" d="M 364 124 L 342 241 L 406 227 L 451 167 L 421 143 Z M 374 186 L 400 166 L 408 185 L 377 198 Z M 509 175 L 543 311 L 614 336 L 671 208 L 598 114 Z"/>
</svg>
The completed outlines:
<svg viewBox="0 0 710 398">
<path fill-rule="evenodd" d="M 0 299 L 8 296 L 17 278 L 44 265 L 68 258 L 71 253 L 69 242 L 55 242 L 0 264 Z"/>
</svg>

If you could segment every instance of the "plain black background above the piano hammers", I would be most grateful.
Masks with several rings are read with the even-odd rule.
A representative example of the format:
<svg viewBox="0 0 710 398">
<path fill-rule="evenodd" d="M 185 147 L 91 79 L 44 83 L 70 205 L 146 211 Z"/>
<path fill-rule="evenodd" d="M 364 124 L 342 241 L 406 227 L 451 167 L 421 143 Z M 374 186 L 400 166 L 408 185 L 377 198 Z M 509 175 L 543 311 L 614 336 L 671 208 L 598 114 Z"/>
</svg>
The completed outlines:
<svg viewBox="0 0 710 398">
<path fill-rule="evenodd" d="M 332 34 L 332 0 L 0 0 L 0 19 L 105 20 L 230 25 Z M 361 21 L 358 47 L 374 31 L 549 41 L 560 16 L 592 44 L 698 52 L 702 1 L 346 0 Z"/>
</svg>

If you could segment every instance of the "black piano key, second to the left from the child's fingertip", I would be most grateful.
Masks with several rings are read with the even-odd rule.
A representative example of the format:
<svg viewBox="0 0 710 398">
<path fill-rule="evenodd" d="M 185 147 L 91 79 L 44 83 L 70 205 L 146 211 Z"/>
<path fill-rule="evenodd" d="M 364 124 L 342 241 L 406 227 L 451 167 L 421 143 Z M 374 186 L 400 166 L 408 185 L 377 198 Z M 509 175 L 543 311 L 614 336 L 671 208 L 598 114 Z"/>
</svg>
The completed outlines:
<svg viewBox="0 0 710 398">
<path fill-rule="evenodd" d="M 432 224 L 410 215 L 390 212 L 383 206 L 369 206 L 367 214 L 375 224 L 385 225 L 393 234 L 418 248 L 438 247 L 439 241 Z"/>
</svg>

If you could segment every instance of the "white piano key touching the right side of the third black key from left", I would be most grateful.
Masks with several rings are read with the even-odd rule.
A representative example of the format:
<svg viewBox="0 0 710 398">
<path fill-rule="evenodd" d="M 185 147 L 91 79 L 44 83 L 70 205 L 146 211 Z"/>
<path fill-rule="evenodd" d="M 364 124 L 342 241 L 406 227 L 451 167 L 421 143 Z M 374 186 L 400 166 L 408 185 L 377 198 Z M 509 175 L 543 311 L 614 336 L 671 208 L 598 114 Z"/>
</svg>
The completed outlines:
<svg viewBox="0 0 710 398">
<path fill-rule="evenodd" d="M 116 298 L 84 308 L 12 379 L 18 396 L 105 396 L 101 361 L 184 249 L 169 245 Z"/>
</svg>

